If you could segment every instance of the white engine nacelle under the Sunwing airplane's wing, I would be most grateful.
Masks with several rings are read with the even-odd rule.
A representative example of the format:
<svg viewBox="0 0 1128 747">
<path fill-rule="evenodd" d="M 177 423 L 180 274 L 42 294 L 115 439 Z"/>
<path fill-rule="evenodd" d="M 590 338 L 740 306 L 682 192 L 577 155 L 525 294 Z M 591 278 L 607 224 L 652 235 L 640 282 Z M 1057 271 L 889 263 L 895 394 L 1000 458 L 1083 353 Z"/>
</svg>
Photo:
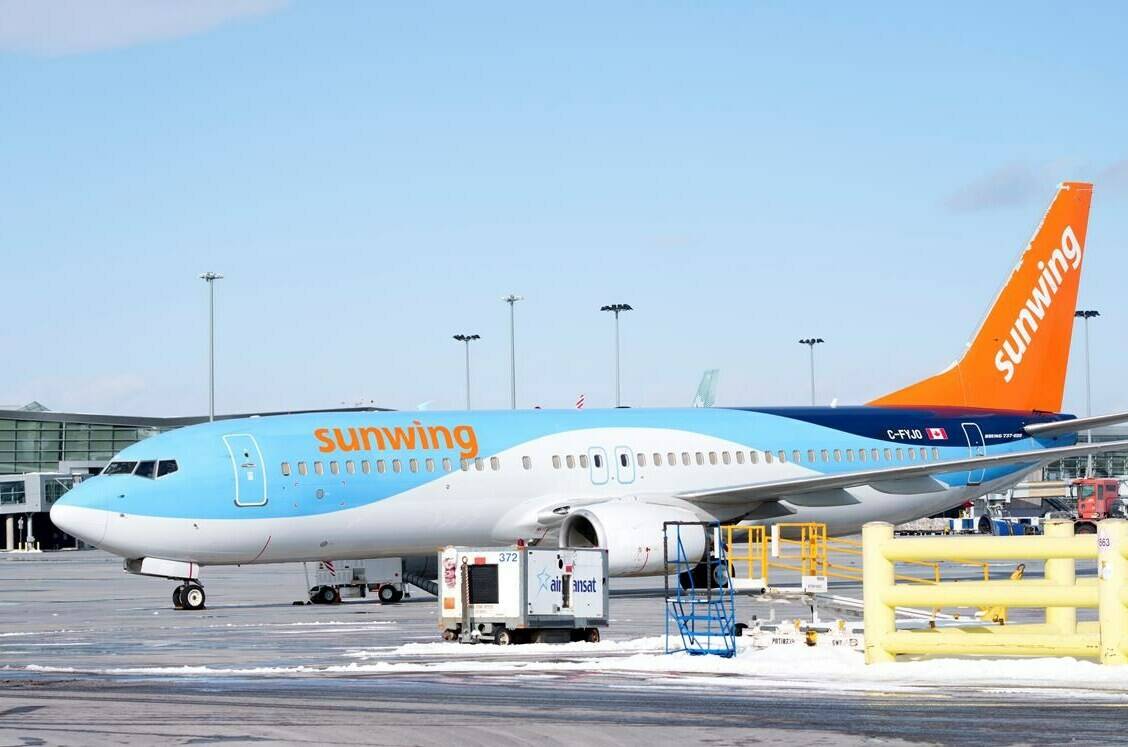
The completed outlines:
<svg viewBox="0 0 1128 747">
<path fill-rule="evenodd" d="M 606 547 L 611 575 L 661 575 L 662 522 L 698 521 L 691 511 L 671 506 L 609 501 L 575 509 L 564 518 L 561 547 Z M 705 527 L 680 528 L 686 559 L 696 562 L 705 556 Z M 670 531 L 668 557 L 678 556 L 678 535 Z"/>
</svg>

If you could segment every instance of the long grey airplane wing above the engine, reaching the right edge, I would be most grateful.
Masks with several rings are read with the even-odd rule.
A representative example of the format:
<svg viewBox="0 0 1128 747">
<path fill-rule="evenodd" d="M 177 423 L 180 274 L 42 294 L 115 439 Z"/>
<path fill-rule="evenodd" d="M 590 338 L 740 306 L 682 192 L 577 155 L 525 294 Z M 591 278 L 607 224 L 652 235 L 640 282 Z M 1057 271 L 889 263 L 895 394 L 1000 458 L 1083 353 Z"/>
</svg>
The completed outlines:
<svg viewBox="0 0 1128 747">
<path fill-rule="evenodd" d="M 1076 421 L 1069 421 L 1076 422 Z M 1101 451 L 1114 451 L 1128 448 L 1128 440 L 1105 441 L 1102 443 L 1078 443 L 1077 446 L 1064 446 L 1054 449 L 1038 449 L 1034 451 L 1016 451 L 1010 454 L 998 454 L 985 457 L 969 457 L 967 459 L 952 459 L 949 462 L 925 462 L 904 467 L 887 467 L 882 469 L 862 469 L 847 474 L 837 475 L 814 475 L 811 477 L 793 477 L 790 480 L 776 480 L 772 482 L 750 483 L 747 485 L 732 485 L 729 487 L 711 487 L 707 490 L 685 491 L 677 494 L 696 503 L 750 503 L 754 501 L 792 501 L 792 496 L 799 496 L 794 502 L 802 502 L 802 498 L 810 493 L 827 493 L 829 491 L 845 487 L 860 487 L 870 485 L 881 492 L 904 492 L 924 493 L 942 490 L 944 485 L 936 482 L 933 475 L 945 475 L 955 472 L 971 472 L 973 469 L 985 469 L 987 467 L 999 467 L 1012 464 L 1056 462 L 1065 457 L 1084 456 L 1086 454 L 1099 454 Z M 843 494 L 841 502 L 851 501 L 848 494 Z M 826 499 L 818 504 L 825 504 Z M 835 501 L 829 499 L 831 503 Z"/>
</svg>

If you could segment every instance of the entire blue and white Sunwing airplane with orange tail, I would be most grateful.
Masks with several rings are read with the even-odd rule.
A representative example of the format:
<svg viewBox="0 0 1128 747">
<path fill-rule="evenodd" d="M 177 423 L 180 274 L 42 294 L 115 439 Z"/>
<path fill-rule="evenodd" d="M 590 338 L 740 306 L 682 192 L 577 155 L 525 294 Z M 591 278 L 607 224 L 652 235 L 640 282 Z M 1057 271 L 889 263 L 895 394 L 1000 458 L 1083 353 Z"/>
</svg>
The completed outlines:
<svg viewBox="0 0 1128 747">
<path fill-rule="evenodd" d="M 221 420 L 140 441 L 51 510 L 56 526 L 177 580 L 200 569 L 450 544 L 600 546 L 661 574 L 666 521 L 900 522 L 1123 449 L 1060 414 L 1092 186 L 1060 185 L 962 358 L 864 406 L 349 412 Z M 705 552 L 704 530 L 690 553 Z M 425 568 L 423 564 L 421 568 Z"/>
</svg>

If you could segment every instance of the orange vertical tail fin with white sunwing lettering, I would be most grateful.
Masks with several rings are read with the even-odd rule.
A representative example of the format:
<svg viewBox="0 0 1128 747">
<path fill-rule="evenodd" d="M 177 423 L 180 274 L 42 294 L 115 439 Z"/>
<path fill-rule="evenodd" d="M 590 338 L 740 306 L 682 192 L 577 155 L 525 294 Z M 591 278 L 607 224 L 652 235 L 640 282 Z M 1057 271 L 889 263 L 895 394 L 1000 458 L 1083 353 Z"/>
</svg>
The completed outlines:
<svg viewBox="0 0 1128 747">
<path fill-rule="evenodd" d="M 1058 187 L 963 358 L 870 404 L 1059 411 L 1092 195 L 1092 184 Z"/>
</svg>

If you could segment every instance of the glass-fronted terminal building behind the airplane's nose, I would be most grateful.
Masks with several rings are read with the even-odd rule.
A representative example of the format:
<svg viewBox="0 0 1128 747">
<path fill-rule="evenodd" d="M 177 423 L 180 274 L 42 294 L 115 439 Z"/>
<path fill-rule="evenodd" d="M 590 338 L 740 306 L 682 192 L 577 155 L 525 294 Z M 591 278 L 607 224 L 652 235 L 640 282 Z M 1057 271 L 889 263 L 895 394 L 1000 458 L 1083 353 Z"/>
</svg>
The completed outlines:
<svg viewBox="0 0 1128 747">
<path fill-rule="evenodd" d="M 337 411 L 374 411 L 346 407 Z M 319 411 L 324 412 L 324 411 Z M 258 413 L 277 415 L 284 413 Z M 222 415 L 217 420 L 246 418 Z M 51 506 L 125 447 L 208 418 L 144 418 L 51 412 L 37 402 L 0 408 L 0 536 L 2 550 L 74 547 L 51 522 Z"/>
</svg>

